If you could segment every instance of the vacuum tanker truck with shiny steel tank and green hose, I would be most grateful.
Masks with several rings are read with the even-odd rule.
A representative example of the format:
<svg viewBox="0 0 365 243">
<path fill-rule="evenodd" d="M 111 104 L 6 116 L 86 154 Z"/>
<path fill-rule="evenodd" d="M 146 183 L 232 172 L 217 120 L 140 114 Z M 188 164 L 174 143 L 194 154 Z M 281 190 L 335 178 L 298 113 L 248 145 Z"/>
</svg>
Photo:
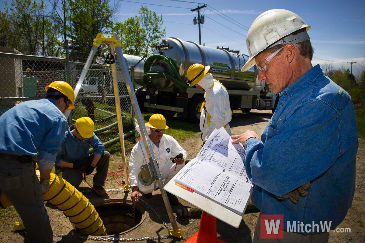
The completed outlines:
<svg viewBox="0 0 365 243">
<path fill-rule="evenodd" d="M 228 91 L 232 110 L 249 112 L 251 109 L 275 110 L 278 98 L 266 86 L 257 81 L 256 66 L 241 72 L 249 57 L 238 51 L 210 48 L 178 38 L 167 38 L 155 46 L 152 56 L 143 66 L 143 78 L 135 84 L 143 86 L 137 99 L 142 109 L 165 116 L 187 117 L 199 122 L 204 91 L 189 87 L 186 73 L 190 65 L 210 65 L 214 79 Z"/>
</svg>

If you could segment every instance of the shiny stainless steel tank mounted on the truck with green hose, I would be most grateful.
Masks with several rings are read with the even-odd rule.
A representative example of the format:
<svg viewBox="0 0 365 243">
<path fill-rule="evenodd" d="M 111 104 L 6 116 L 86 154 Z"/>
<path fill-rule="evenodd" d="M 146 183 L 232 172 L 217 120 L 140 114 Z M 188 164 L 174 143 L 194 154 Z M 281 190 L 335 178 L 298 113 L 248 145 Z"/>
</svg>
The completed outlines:
<svg viewBox="0 0 365 243">
<path fill-rule="evenodd" d="M 255 66 L 247 72 L 241 72 L 241 68 L 249 58 L 245 54 L 228 52 L 221 48 L 215 49 L 201 46 L 195 42 L 181 41 L 178 38 L 164 39 L 160 45 L 156 46 L 153 54 L 160 54 L 172 58 L 183 83 L 187 80 L 186 73 L 188 68 L 195 63 L 210 65 L 209 73 L 215 79 L 220 80 L 227 89 L 231 90 L 250 90 L 255 83 L 258 73 Z M 163 58 L 155 59 L 147 71 L 173 75 L 171 65 Z M 151 76 L 148 82 L 158 90 L 173 86 L 173 82 L 163 76 Z"/>
</svg>

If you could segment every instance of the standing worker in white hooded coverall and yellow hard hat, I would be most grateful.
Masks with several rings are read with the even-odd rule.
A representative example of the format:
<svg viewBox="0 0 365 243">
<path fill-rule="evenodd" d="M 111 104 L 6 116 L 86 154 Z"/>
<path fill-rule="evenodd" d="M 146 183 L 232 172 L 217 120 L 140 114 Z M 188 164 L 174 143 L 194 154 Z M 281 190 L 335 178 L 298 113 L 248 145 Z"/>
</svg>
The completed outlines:
<svg viewBox="0 0 365 243">
<path fill-rule="evenodd" d="M 227 89 L 222 83 L 213 79 L 208 73 L 210 66 L 193 64 L 187 71 L 187 83 L 190 87 L 196 86 L 198 90 L 205 90 L 205 101 L 201 105 L 200 130 L 203 144 L 207 141 L 214 129 L 222 126 L 231 135 L 231 128 L 228 122 L 232 119 L 231 106 Z"/>
</svg>

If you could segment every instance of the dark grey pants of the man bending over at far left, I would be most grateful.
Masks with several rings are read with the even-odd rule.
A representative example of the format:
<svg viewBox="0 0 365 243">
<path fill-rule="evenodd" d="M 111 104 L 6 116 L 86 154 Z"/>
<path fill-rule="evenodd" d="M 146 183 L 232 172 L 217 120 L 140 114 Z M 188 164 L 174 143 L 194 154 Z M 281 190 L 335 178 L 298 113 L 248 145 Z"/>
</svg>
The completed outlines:
<svg viewBox="0 0 365 243">
<path fill-rule="evenodd" d="M 0 190 L 23 220 L 31 243 L 53 242 L 53 232 L 34 164 L 0 158 Z"/>
</svg>

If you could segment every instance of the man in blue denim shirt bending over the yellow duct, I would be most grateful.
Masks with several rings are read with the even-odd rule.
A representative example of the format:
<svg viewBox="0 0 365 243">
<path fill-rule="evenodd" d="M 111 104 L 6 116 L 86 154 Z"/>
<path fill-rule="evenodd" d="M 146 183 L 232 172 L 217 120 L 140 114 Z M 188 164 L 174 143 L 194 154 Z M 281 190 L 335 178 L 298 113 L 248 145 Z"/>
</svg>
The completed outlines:
<svg viewBox="0 0 365 243">
<path fill-rule="evenodd" d="M 53 242 L 42 194 L 67 129 L 63 113 L 74 109 L 74 92 L 64 81 L 46 87 L 45 99 L 24 101 L 0 117 L 0 190 L 23 220 L 29 242 Z M 38 157 L 40 183 L 35 173 Z"/>
</svg>

